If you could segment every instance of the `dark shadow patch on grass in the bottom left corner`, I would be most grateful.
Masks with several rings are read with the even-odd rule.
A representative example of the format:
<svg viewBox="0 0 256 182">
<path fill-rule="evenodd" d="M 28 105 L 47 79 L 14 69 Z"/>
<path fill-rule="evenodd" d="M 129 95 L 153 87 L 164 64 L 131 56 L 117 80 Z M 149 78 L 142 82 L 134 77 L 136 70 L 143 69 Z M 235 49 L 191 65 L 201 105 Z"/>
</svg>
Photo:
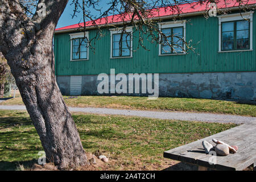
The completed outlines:
<svg viewBox="0 0 256 182">
<path fill-rule="evenodd" d="M 37 163 L 38 161 L 36 159 L 33 160 L 26 160 L 26 161 L 20 161 L 20 162 L 6 162 L 6 161 L 0 161 L 0 171 L 15 171 L 19 170 L 19 166 L 23 166 L 25 169 L 32 168 L 33 164 Z"/>
</svg>

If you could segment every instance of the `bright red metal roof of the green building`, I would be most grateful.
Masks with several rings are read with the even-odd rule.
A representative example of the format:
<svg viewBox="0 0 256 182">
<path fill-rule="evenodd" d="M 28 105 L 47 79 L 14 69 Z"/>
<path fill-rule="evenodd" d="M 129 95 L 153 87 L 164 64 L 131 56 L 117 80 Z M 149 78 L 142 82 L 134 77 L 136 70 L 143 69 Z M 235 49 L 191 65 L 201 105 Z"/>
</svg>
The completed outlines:
<svg viewBox="0 0 256 182">
<path fill-rule="evenodd" d="M 253 5 L 256 3 L 256 0 L 243 0 L 245 5 Z M 170 15 L 177 15 L 177 14 L 187 14 L 187 13 L 196 13 L 200 11 L 205 11 L 208 9 L 207 3 L 203 3 L 200 5 L 199 2 L 192 2 L 192 3 L 184 3 L 181 5 L 175 6 L 168 6 L 168 7 L 159 7 L 155 9 L 151 9 L 150 15 L 147 18 L 160 18 L 164 16 Z M 230 8 L 230 7 L 238 7 L 239 4 L 236 0 L 222 0 L 217 3 L 218 9 Z M 179 9 L 179 11 L 177 10 Z M 97 25 L 104 25 L 110 23 L 118 23 L 118 22 L 126 22 L 131 20 L 131 14 L 119 14 L 119 15 L 112 15 L 106 18 L 101 18 L 95 21 Z M 83 27 L 84 23 L 73 24 L 67 27 L 56 28 L 55 31 L 59 30 L 69 30 L 73 28 Z M 85 22 L 86 27 L 93 26 L 93 21 Z"/>
</svg>

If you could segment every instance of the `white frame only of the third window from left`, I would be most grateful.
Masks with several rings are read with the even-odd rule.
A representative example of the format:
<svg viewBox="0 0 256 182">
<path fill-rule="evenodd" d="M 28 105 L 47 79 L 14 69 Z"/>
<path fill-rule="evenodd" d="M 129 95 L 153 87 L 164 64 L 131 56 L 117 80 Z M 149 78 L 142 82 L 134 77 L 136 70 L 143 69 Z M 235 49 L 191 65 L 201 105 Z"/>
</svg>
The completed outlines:
<svg viewBox="0 0 256 182">
<path fill-rule="evenodd" d="M 174 28 L 174 27 L 183 27 L 183 40 L 184 42 L 186 41 L 186 20 L 179 20 L 179 21 L 172 21 L 172 22 L 164 22 L 164 23 L 158 23 L 158 27 L 159 27 L 159 31 L 162 30 L 162 28 Z M 181 52 L 181 53 L 168 53 L 168 54 L 162 54 L 161 51 L 161 35 L 159 36 L 159 52 L 158 52 L 158 56 L 173 56 L 173 55 L 185 55 L 185 52 Z M 185 49 L 185 44 L 183 46 L 183 48 Z"/>
</svg>

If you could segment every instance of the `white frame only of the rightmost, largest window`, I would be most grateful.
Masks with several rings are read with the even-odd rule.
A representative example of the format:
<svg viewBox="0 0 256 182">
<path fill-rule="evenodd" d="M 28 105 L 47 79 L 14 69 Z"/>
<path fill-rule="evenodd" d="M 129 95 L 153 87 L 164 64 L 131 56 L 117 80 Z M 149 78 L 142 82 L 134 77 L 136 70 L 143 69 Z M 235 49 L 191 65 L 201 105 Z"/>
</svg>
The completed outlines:
<svg viewBox="0 0 256 182">
<path fill-rule="evenodd" d="M 242 51 L 253 51 L 253 13 L 254 11 L 250 11 L 247 13 L 236 13 L 236 14 L 228 14 L 228 15 L 220 15 L 218 17 L 218 52 L 242 52 Z M 231 50 L 231 51 L 221 51 L 221 23 L 222 22 L 230 22 L 236 20 L 244 20 L 250 19 L 250 49 L 243 50 Z"/>
</svg>

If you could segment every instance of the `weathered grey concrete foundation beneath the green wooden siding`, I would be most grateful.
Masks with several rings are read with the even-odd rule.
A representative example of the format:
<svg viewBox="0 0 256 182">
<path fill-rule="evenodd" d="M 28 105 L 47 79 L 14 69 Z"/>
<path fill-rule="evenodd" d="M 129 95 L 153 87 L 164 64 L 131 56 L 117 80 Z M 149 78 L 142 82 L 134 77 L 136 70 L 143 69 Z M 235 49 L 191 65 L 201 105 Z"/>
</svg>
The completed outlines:
<svg viewBox="0 0 256 182">
<path fill-rule="evenodd" d="M 139 94 L 129 94 L 128 92 L 127 94 L 110 94 L 110 92 L 109 94 L 100 94 L 97 92 L 97 86 L 100 82 L 101 80 L 97 80 L 97 75 L 82 76 L 81 95 L 148 95 L 142 94 L 141 90 Z M 115 81 L 116 84 L 117 82 L 119 81 Z M 57 83 L 61 93 L 69 96 L 70 76 L 57 76 Z M 128 87 L 127 85 L 127 89 Z M 159 74 L 159 97 L 256 101 L 256 72 Z"/>
</svg>

